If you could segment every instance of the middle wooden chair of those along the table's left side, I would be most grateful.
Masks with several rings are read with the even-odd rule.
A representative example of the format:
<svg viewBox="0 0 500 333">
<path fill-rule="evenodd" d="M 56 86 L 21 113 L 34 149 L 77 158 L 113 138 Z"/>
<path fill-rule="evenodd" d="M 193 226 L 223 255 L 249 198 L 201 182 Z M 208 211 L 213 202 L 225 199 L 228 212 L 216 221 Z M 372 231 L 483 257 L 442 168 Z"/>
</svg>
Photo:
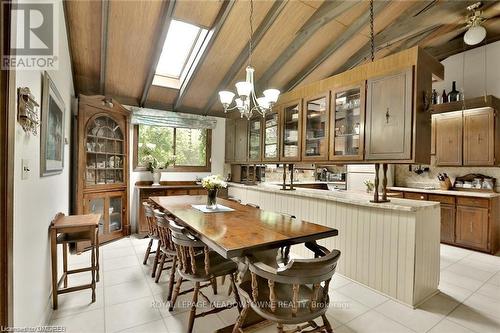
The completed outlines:
<svg viewBox="0 0 500 333">
<path fill-rule="evenodd" d="M 175 282 L 175 269 L 177 268 L 177 252 L 174 243 L 172 242 L 172 235 L 170 233 L 168 220 L 165 218 L 165 213 L 154 210 L 154 215 L 157 224 L 158 235 L 160 237 L 160 261 L 158 262 L 158 269 L 155 282 L 160 280 L 163 270 L 170 269 L 170 280 L 168 282 L 168 295 L 167 301 L 172 299 L 172 291 Z M 170 266 L 165 267 L 165 262 L 171 262 Z"/>
</svg>

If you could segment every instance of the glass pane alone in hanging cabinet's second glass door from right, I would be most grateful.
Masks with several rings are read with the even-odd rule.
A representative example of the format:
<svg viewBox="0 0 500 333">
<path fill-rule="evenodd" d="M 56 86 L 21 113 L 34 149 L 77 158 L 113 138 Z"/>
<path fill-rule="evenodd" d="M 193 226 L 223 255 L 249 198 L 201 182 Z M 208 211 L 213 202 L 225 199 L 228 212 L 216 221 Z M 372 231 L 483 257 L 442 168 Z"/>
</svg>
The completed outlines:
<svg viewBox="0 0 500 333">
<path fill-rule="evenodd" d="M 326 126 L 328 126 L 328 111 L 326 103 L 326 97 L 307 102 L 306 156 L 322 156 L 327 151 Z"/>
</svg>

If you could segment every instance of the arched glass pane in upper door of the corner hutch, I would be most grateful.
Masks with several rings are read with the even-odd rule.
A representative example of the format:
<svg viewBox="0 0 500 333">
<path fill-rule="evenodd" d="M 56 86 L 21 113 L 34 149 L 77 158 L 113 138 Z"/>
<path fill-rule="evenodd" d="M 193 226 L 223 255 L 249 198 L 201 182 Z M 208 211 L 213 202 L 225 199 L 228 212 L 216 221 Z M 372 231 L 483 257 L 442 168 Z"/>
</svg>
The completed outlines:
<svg viewBox="0 0 500 333">
<path fill-rule="evenodd" d="M 123 146 L 122 130 L 112 118 L 101 116 L 89 122 L 86 142 L 87 185 L 123 182 Z"/>
</svg>

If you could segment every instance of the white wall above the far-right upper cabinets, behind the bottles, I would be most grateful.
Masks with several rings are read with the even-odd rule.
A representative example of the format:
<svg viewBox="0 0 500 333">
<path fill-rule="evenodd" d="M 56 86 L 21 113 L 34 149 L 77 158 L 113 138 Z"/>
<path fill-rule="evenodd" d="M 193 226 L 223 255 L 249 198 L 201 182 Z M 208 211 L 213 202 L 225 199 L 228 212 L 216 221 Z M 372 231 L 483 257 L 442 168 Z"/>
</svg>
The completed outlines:
<svg viewBox="0 0 500 333">
<path fill-rule="evenodd" d="M 451 90 L 452 81 L 457 81 L 459 91 L 465 88 L 465 98 L 483 96 L 485 93 L 484 48 L 484 46 L 478 47 L 443 60 L 441 63 L 444 65 L 445 79 L 434 83 L 432 87 L 439 94 L 443 93 L 443 89 L 446 89 L 448 93 Z M 488 95 L 500 97 L 500 42 L 486 46 L 486 64 L 486 91 Z"/>
</svg>

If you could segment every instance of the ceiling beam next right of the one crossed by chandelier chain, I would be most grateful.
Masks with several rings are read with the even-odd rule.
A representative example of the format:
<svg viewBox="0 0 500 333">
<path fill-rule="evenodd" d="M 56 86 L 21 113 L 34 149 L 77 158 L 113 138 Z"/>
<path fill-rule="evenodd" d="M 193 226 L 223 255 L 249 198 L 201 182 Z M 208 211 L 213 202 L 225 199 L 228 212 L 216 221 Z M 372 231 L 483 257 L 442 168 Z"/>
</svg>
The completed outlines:
<svg viewBox="0 0 500 333">
<path fill-rule="evenodd" d="M 325 24 L 331 22 L 347 10 L 357 5 L 359 1 L 326 1 L 324 2 L 314 14 L 307 20 L 307 22 L 298 31 L 293 41 L 288 47 L 281 52 L 278 58 L 266 69 L 265 73 L 256 83 L 257 87 L 267 86 L 268 81 L 292 58 L 297 50 L 299 50 L 316 31 L 322 28 Z M 384 2 L 385 5 L 385 2 Z"/>
</svg>

